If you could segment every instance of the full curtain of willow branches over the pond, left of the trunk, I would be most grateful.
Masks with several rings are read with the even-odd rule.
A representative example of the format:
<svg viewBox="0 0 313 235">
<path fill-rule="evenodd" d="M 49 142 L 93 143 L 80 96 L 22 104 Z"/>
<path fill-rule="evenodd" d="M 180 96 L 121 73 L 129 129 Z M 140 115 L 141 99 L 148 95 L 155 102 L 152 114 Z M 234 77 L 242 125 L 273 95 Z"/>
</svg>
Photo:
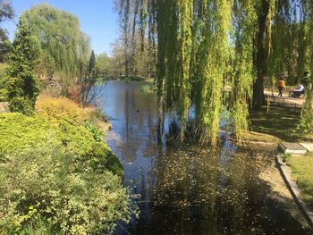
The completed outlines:
<svg viewBox="0 0 313 235">
<path fill-rule="evenodd" d="M 226 80 L 233 87 L 231 110 L 240 136 L 241 130 L 248 129 L 257 5 L 214 0 L 160 0 L 157 4 L 158 92 L 167 108 L 177 111 L 181 138 L 194 104 L 194 134 L 202 143 L 216 143 Z M 233 29 L 236 33 L 230 38 Z M 234 76 L 229 75 L 232 52 Z"/>
</svg>

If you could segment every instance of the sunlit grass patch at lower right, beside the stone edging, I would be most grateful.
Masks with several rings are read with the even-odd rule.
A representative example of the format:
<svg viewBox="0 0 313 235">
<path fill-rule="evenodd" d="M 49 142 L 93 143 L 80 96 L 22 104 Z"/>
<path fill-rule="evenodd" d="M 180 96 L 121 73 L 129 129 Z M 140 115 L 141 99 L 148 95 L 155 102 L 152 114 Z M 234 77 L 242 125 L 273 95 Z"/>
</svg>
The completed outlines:
<svg viewBox="0 0 313 235">
<path fill-rule="evenodd" d="M 313 210 L 313 153 L 304 156 L 292 156 L 288 159 L 292 167 L 292 178 L 297 181 L 301 196 L 310 209 Z"/>
</svg>

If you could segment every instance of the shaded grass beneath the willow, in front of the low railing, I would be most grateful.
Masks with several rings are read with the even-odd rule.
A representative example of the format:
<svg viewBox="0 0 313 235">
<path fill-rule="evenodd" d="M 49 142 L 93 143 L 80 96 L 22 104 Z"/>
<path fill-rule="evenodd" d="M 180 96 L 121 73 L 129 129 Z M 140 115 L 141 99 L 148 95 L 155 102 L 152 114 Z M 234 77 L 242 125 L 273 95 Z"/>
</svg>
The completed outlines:
<svg viewBox="0 0 313 235">
<path fill-rule="evenodd" d="M 300 108 L 271 105 L 250 113 L 253 131 L 280 138 L 286 142 L 313 141 L 312 136 L 304 136 L 297 130 L 300 123 Z"/>
</svg>

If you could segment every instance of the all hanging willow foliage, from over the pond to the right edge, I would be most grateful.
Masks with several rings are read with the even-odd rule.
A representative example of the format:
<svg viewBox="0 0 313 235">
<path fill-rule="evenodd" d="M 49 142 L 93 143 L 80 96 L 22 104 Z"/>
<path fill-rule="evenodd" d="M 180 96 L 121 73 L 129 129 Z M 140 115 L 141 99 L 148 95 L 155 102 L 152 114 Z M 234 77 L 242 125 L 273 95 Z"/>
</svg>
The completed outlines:
<svg viewBox="0 0 313 235">
<path fill-rule="evenodd" d="M 266 76 L 313 71 L 307 65 L 313 64 L 313 23 L 303 23 L 312 21 L 312 5 L 309 0 L 157 0 L 158 95 L 177 111 L 181 134 L 194 104 L 196 136 L 216 143 L 226 106 L 234 135 L 241 138 L 249 129 L 250 100 L 263 104 Z M 226 99 L 225 85 L 231 90 Z M 313 120 L 306 118 L 310 97 L 303 122 Z"/>
</svg>

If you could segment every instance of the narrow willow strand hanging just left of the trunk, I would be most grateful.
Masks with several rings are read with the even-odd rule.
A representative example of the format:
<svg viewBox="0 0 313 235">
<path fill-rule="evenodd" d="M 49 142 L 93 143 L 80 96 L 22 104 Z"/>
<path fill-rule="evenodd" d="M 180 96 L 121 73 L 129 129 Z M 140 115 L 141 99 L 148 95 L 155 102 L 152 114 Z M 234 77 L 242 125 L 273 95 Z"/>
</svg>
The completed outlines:
<svg viewBox="0 0 313 235">
<path fill-rule="evenodd" d="M 230 112 L 233 117 L 233 133 L 241 138 L 249 128 L 249 104 L 255 77 L 253 67 L 253 40 L 257 33 L 258 15 L 256 1 L 235 2 L 233 14 L 234 63 Z"/>
</svg>

